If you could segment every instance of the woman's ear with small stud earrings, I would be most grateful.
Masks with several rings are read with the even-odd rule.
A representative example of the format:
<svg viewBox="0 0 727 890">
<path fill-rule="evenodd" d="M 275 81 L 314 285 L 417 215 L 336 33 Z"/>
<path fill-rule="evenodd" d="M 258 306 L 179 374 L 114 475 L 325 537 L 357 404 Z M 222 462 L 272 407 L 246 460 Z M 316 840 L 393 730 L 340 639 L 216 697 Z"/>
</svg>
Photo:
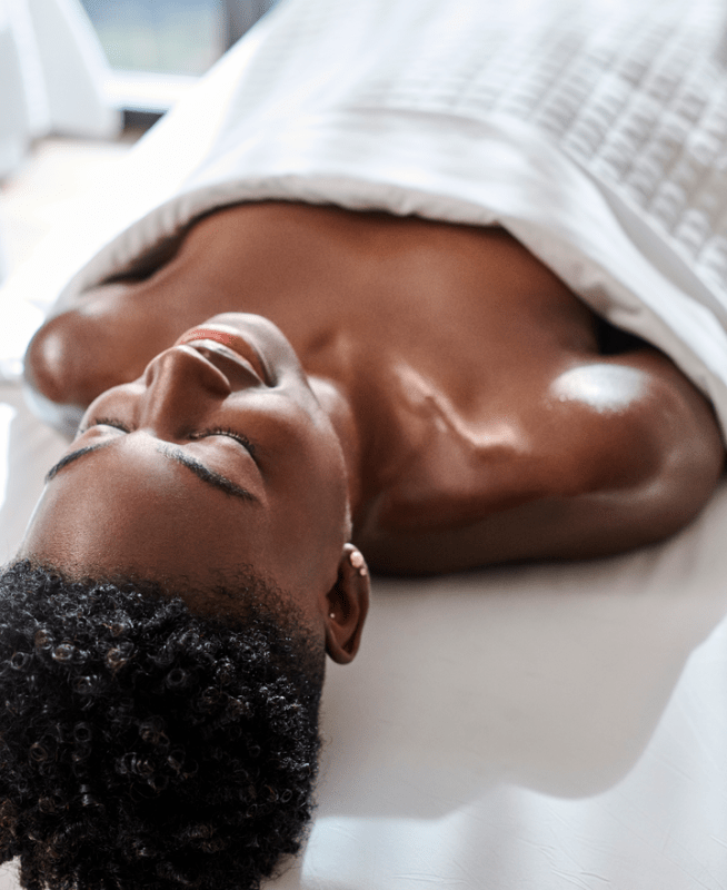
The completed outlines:
<svg viewBox="0 0 727 890">
<path fill-rule="evenodd" d="M 326 652 L 338 664 L 353 661 L 369 610 L 369 572 L 352 544 L 343 546 L 338 578 L 326 594 Z"/>
</svg>

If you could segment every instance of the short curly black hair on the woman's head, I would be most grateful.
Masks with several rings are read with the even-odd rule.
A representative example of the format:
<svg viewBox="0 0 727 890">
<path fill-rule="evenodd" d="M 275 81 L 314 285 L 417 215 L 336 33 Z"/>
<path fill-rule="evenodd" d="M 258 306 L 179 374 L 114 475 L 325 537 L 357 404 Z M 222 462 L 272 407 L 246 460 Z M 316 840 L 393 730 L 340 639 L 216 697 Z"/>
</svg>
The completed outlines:
<svg viewBox="0 0 727 890">
<path fill-rule="evenodd" d="M 323 663 L 259 605 L 7 566 L 0 861 L 27 890 L 258 888 L 310 821 Z"/>
</svg>

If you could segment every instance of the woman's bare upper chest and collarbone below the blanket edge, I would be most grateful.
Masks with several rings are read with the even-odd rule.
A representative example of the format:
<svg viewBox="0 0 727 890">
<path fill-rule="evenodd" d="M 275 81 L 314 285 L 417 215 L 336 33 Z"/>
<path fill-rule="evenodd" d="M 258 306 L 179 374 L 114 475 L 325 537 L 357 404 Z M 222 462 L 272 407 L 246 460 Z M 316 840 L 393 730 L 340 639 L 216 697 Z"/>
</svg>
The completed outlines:
<svg viewBox="0 0 727 890">
<path fill-rule="evenodd" d="M 166 338 L 219 313 L 272 320 L 351 402 L 362 510 L 404 524 L 480 508 L 544 368 L 595 347 L 590 312 L 502 229 L 335 208 L 215 214 L 129 298 L 169 319 Z"/>
</svg>

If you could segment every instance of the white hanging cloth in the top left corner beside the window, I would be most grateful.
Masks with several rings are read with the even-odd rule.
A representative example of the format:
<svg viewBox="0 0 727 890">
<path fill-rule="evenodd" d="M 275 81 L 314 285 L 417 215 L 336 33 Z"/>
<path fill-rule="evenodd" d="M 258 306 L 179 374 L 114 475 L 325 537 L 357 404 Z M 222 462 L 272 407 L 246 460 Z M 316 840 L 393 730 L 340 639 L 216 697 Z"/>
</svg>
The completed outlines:
<svg viewBox="0 0 727 890">
<path fill-rule="evenodd" d="M 39 136 L 112 136 L 107 75 L 79 0 L 0 0 L 0 178 Z"/>
</svg>

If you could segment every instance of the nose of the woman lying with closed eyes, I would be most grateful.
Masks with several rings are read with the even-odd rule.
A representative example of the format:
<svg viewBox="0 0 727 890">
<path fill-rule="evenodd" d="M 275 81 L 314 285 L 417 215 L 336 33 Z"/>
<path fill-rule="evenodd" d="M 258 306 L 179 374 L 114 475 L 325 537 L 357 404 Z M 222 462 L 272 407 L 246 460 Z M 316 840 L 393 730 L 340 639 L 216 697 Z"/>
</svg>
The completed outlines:
<svg viewBox="0 0 727 890">
<path fill-rule="evenodd" d="M 143 373 L 139 426 L 161 432 L 195 426 L 232 392 L 230 380 L 191 346 L 160 353 Z"/>
</svg>

